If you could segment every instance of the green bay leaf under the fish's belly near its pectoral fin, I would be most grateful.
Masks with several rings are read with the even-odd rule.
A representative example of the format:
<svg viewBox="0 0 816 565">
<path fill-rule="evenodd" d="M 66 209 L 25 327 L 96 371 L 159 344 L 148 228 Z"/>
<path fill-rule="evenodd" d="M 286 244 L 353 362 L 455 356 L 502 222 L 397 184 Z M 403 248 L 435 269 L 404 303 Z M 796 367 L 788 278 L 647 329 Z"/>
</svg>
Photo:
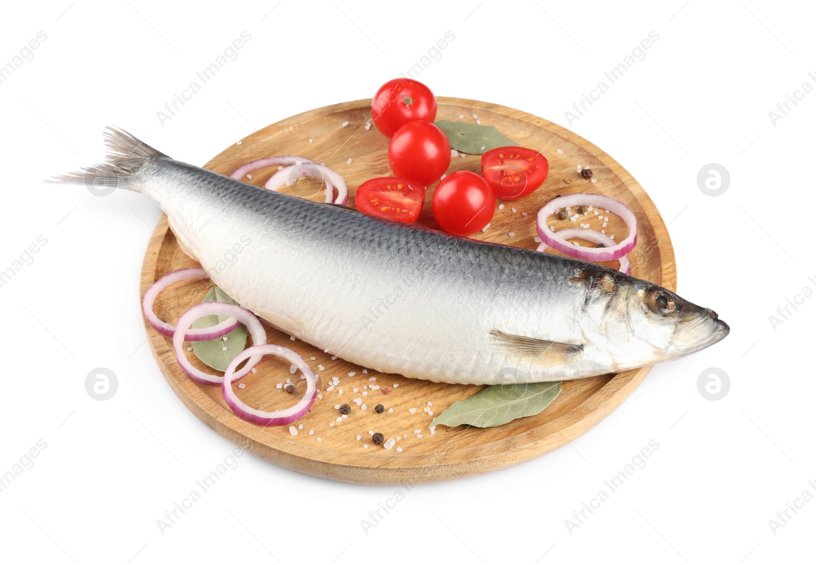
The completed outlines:
<svg viewBox="0 0 816 565">
<path fill-rule="evenodd" d="M 490 385 L 470 398 L 453 403 L 433 419 L 431 425 L 450 428 L 469 424 L 492 428 L 523 416 L 533 416 L 548 407 L 561 393 L 561 382 Z"/>
</svg>

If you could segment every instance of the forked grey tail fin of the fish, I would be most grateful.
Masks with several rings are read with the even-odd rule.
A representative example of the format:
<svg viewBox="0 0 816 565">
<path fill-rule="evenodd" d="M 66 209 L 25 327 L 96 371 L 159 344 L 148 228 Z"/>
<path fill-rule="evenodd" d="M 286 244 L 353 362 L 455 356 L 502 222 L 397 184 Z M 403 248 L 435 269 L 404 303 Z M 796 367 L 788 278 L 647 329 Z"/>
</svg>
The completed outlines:
<svg viewBox="0 0 816 565">
<path fill-rule="evenodd" d="M 103 133 L 104 145 L 108 148 L 108 153 L 105 155 L 104 163 L 69 172 L 66 175 L 55 176 L 46 182 L 87 185 L 96 190 L 103 187 L 133 189 L 135 172 L 145 161 L 152 157 L 167 157 L 127 131 L 115 127 L 105 129 L 107 131 Z"/>
</svg>

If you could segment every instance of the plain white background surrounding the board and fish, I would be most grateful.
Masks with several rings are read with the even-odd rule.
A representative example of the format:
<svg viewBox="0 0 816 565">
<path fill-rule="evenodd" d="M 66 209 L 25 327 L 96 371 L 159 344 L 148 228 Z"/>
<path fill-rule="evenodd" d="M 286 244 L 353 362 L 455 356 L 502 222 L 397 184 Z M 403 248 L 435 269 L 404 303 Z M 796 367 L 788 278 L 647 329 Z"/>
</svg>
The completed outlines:
<svg viewBox="0 0 816 565">
<path fill-rule="evenodd" d="M 24 4 L 26 6 L 24 7 Z M 270 11 L 271 10 L 271 11 Z M 805 2 L 15 2 L 0 65 L 47 40 L 0 84 L 5 269 L 38 235 L 32 265 L 0 289 L 7 323 L 0 473 L 47 448 L 0 492 L 7 563 L 802 563 L 816 501 L 772 532 L 805 490 L 813 449 L 816 288 L 812 169 L 816 93 L 769 111 L 816 72 Z M 170 121 L 157 110 L 242 31 L 251 41 Z M 675 246 L 678 290 L 730 323 L 720 344 L 654 367 L 595 429 L 538 460 L 394 496 L 244 456 L 163 535 L 157 519 L 233 448 L 203 425 L 144 345 L 137 301 L 159 210 L 139 194 L 97 198 L 41 179 L 99 162 L 117 124 L 202 164 L 259 127 L 373 95 L 443 33 L 419 76 L 438 96 L 507 105 L 570 127 L 641 182 Z M 579 120 L 565 111 L 650 31 L 659 41 Z M 697 186 L 710 162 L 731 183 Z M 809 281 L 809 276 L 814 280 Z M 95 367 L 117 394 L 90 398 Z M 698 392 L 707 367 L 725 398 Z M 659 449 L 571 532 L 582 508 L 645 447 Z M 405 489 L 402 489 L 405 491 Z M 270 555 L 272 554 L 272 555 Z"/>
</svg>

